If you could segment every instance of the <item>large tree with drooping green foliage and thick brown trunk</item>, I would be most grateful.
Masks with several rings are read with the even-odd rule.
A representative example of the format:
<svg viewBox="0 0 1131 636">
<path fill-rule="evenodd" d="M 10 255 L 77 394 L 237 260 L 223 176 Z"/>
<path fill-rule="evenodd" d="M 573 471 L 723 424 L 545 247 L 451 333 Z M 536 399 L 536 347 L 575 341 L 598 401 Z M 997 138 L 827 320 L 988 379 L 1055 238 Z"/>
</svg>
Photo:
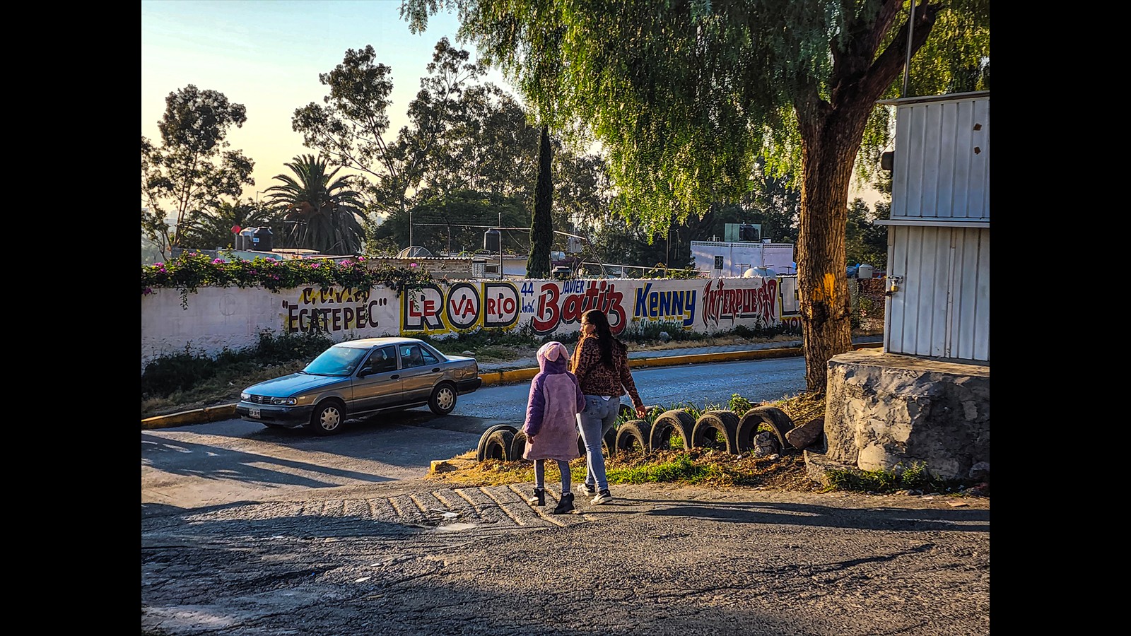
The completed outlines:
<svg viewBox="0 0 1131 636">
<path fill-rule="evenodd" d="M 848 191 L 892 132 L 875 102 L 908 59 L 908 95 L 988 87 L 988 0 L 403 0 L 402 17 L 416 33 L 447 9 L 541 121 L 602 143 L 638 224 L 737 200 L 759 157 L 800 184 L 811 393 L 852 347 Z"/>
</svg>

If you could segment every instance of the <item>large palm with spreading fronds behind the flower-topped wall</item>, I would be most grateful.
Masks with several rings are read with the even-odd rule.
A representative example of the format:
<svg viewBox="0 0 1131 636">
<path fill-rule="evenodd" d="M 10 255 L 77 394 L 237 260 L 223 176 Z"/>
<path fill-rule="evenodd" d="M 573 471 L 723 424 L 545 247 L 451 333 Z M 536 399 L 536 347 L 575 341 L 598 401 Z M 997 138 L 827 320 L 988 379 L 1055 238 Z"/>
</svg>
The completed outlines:
<svg viewBox="0 0 1131 636">
<path fill-rule="evenodd" d="M 277 174 L 279 186 L 267 188 L 270 204 L 284 213 L 292 244 L 322 253 L 357 253 L 365 242 L 361 194 L 351 188 L 352 178 L 337 177 L 340 167 L 327 172 L 329 160 L 301 155 L 286 164 L 294 172 Z"/>
</svg>

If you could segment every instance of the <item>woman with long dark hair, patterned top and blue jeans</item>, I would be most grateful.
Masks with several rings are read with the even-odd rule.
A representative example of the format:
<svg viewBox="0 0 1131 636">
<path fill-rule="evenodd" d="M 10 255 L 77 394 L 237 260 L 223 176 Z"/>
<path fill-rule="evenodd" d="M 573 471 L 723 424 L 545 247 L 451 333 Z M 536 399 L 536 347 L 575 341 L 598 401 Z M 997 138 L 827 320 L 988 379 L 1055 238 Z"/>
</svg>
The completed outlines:
<svg viewBox="0 0 1131 636">
<path fill-rule="evenodd" d="M 616 423 L 624 393 L 632 398 L 638 418 L 644 418 L 647 411 L 629 371 L 629 350 L 613 337 L 604 311 L 590 309 L 581 315 L 581 340 L 570 359 L 570 371 L 577 376 L 585 394 L 585 411 L 579 422 L 586 469 L 580 491 L 586 496 L 594 495 L 593 504 L 607 504 L 613 496 L 608 493 L 601 440 Z"/>
</svg>

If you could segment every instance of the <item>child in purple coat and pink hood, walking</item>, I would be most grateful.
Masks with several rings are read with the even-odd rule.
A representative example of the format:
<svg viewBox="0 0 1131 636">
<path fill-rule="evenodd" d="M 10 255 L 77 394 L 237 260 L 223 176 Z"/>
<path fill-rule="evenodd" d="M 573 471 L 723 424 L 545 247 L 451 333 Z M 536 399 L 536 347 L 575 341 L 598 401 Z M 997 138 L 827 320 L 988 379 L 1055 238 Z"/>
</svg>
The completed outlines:
<svg viewBox="0 0 1131 636">
<path fill-rule="evenodd" d="M 577 376 L 569 372 L 569 351 L 560 342 L 547 342 L 538 350 L 538 375 L 530 380 L 526 402 L 526 450 L 523 457 L 534 459 L 534 497 L 530 504 L 546 505 L 546 459 L 558 462 L 562 475 L 562 493 L 555 515 L 573 509 L 570 492 L 570 459 L 581 456 L 577 449 L 577 414 L 585 410 L 585 395 Z"/>
</svg>

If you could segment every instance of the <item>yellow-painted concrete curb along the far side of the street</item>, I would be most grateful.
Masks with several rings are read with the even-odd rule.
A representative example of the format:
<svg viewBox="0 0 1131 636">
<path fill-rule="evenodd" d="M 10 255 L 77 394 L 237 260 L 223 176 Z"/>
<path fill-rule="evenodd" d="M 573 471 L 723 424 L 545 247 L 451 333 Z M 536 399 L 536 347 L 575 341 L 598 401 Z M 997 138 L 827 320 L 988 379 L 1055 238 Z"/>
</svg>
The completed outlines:
<svg viewBox="0 0 1131 636">
<path fill-rule="evenodd" d="M 863 342 L 853 344 L 853 349 L 873 349 L 883 346 L 882 342 Z M 670 355 L 667 358 L 636 358 L 629 360 L 629 367 L 675 367 L 677 364 L 702 364 L 705 362 L 733 362 L 735 360 L 760 360 L 763 358 L 792 358 L 801 355 L 800 346 L 782 349 L 757 349 L 751 351 L 727 351 L 723 353 L 693 353 L 690 355 Z M 509 371 L 490 371 L 480 373 L 483 386 L 508 385 L 529 380 L 537 375 L 537 369 L 512 369 Z M 185 427 L 189 424 L 206 424 L 235 418 L 235 404 L 208 406 L 181 411 L 169 415 L 155 415 L 141 420 L 141 430 Z"/>
</svg>

